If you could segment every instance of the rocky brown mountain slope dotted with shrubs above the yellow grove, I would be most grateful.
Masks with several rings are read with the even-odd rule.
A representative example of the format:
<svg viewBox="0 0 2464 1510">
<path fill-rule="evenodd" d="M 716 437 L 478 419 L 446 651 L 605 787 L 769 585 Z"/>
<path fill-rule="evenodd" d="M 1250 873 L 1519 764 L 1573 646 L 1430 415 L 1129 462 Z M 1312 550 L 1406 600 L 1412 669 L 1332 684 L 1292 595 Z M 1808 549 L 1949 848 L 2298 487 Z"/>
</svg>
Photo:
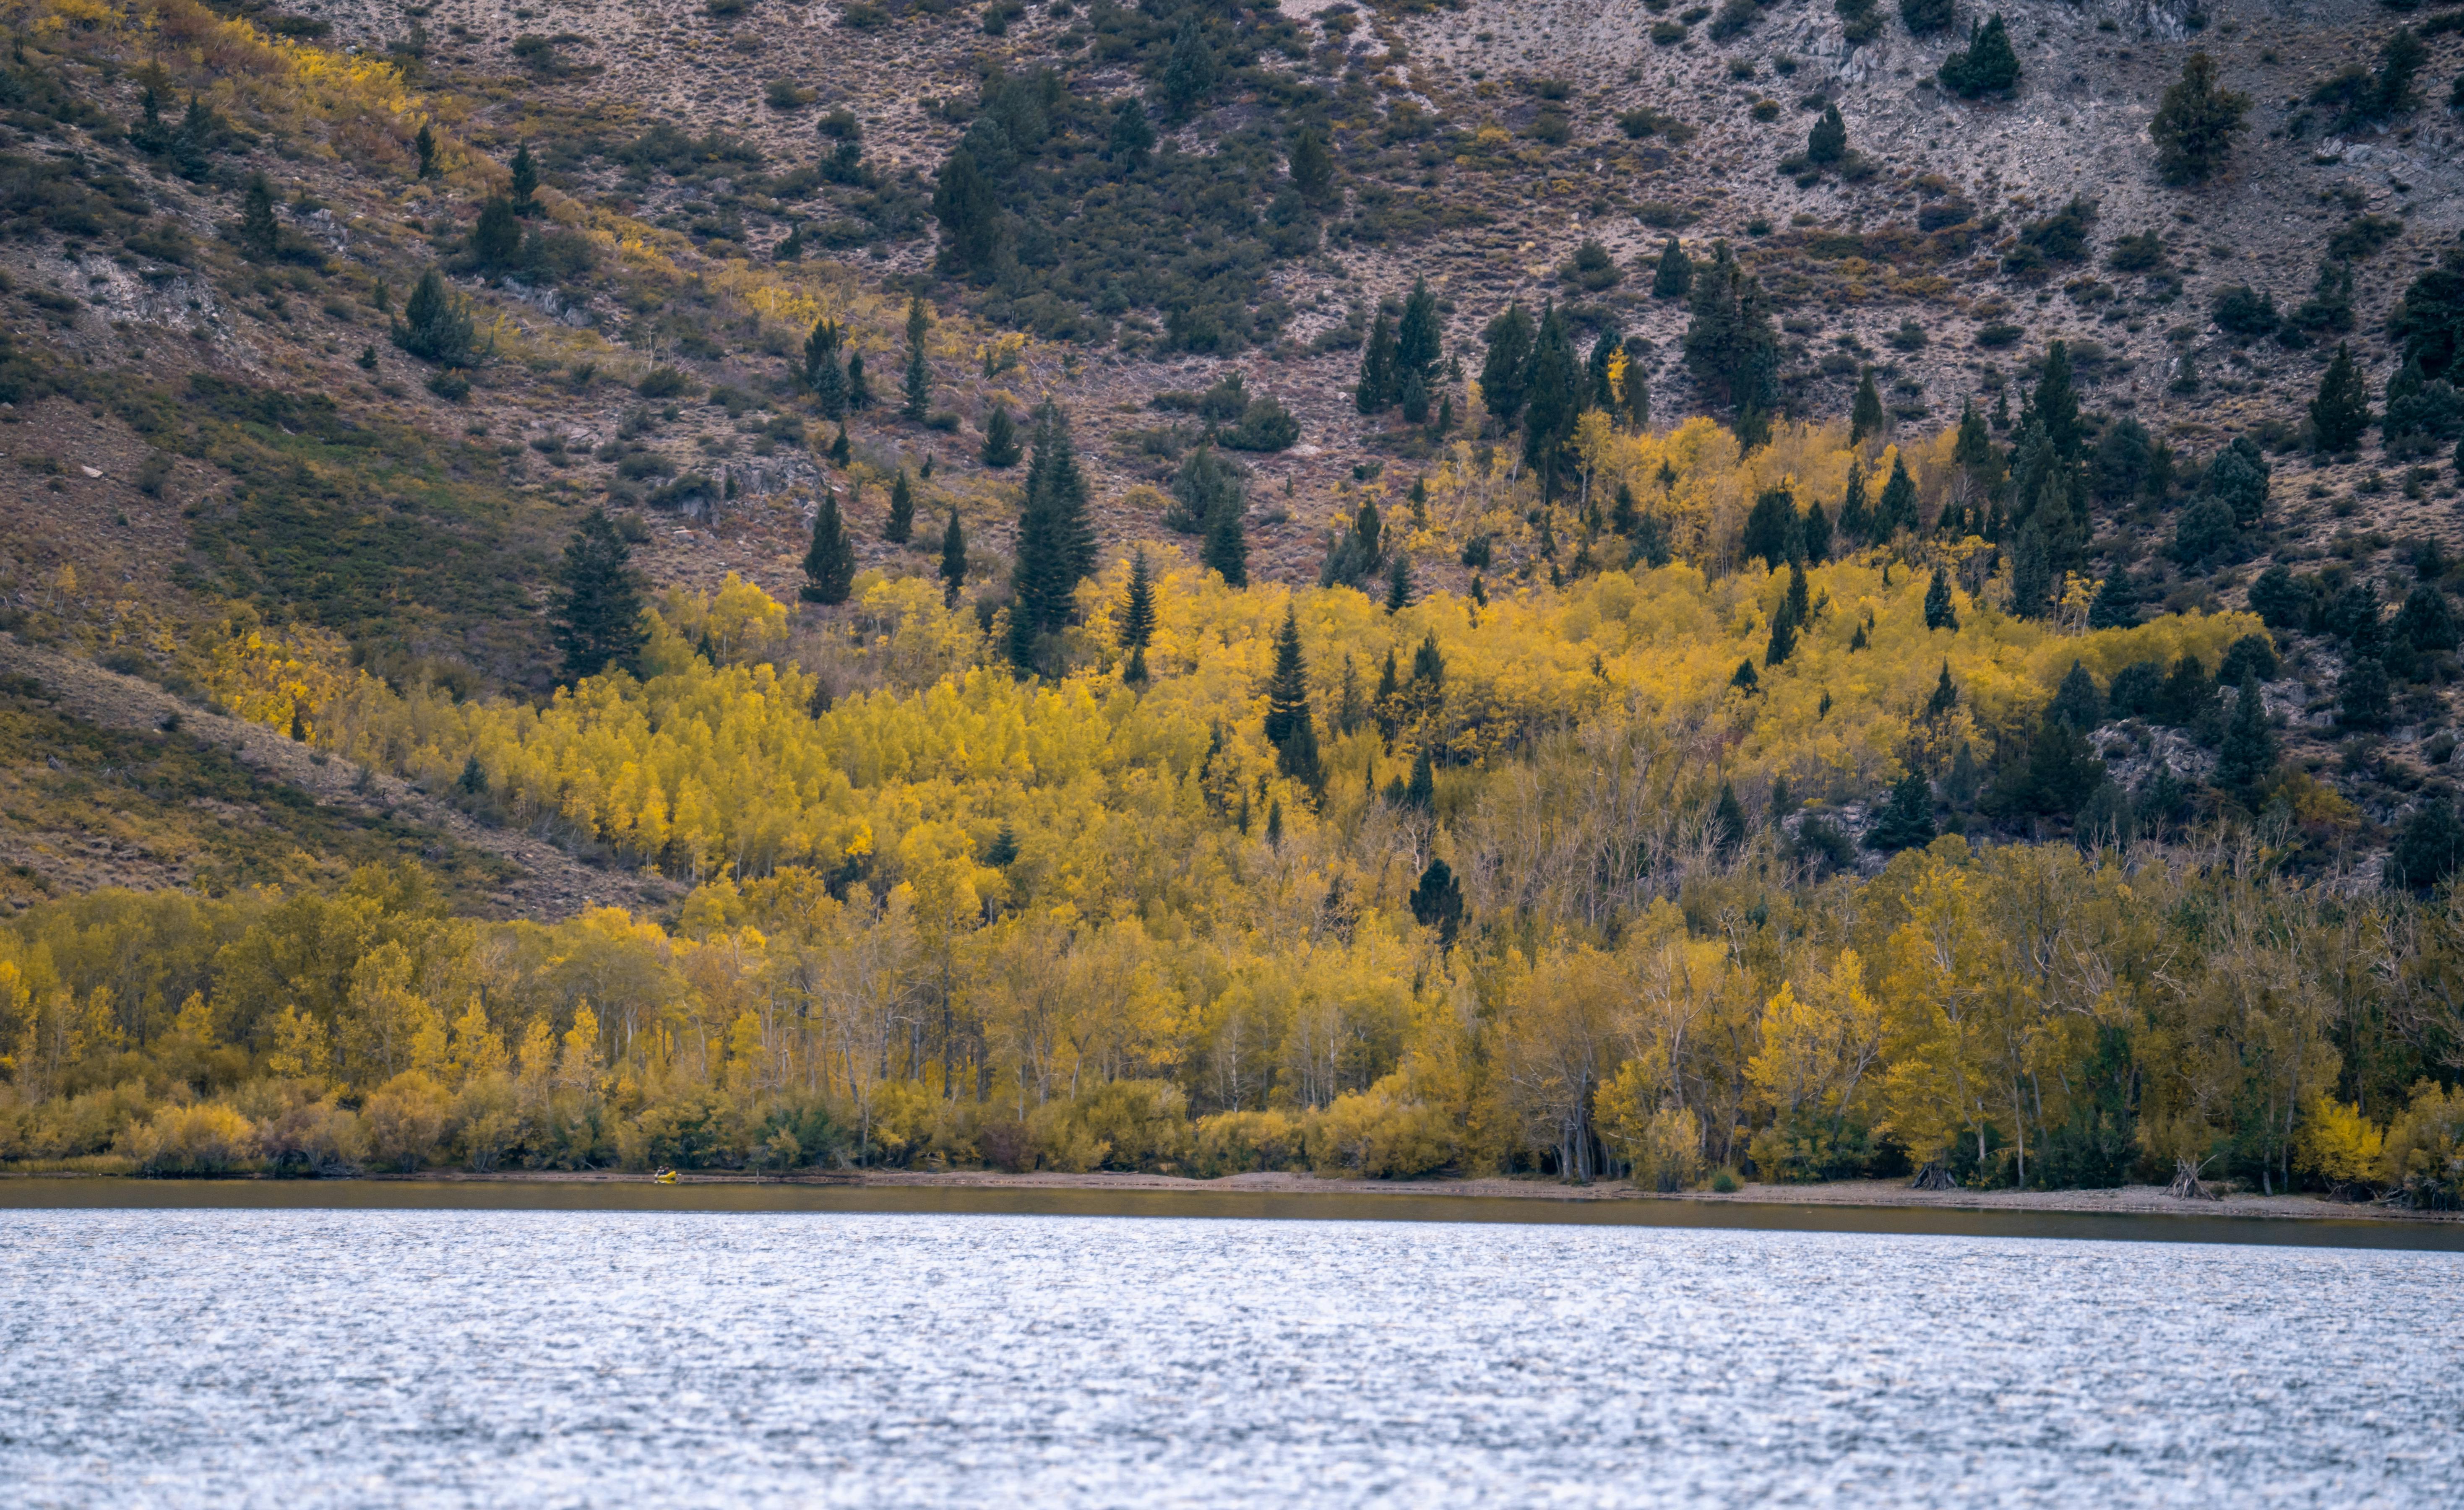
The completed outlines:
<svg viewBox="0 0 2464 1510">
<path fill-rule="evenodd" d="M 30 640 L 175 685 L 224 606 L 254 601 L 397 680 L 540 692 L 545 574 L 582 510 L 638 525 L 658 581 L 734 571 L 791 596 L 823 485 L 853 483 L 865 567 L 934 569 L 880 539 L 899 470 L 919 517 L 966 522 L 991 601 L 1018 473 L 978 461 L 983 429 L 1047 397 L 1106 544 L 1195 552 L 1163 507 L 1200 424 L 1158 399 L 1227 374 L 1299 419 L 1296 443 L 1239 456 L 1252 571 L 1311 581 L 1360 498 L 1400 507 L 1432 466 L 1486 456 L 1469 379 L 1510 301 L 1641 335 L 1658 424 L 1725 416 L 1680 360 L 1685 301 L 1653 296 L 1668 239 L 1695 261 L 1727 244 L 1762 281 L 1796 419 L 1846 419 L 1873 369 L 1895 438 L 1929 441 L 1966 404 L 2016 409 L 2065 340 L 2085 404 L 2183 468 L 2259 441 L 2269 525 L 2242 562 L 2171 564 L 2168 500 L 2099 517 L 2102 569 L 2168 606 L 2240 606 L 2274 562 L 2400 599 L 2420 544 L 2464 535 L 2444 456 L 2301 446 L 2338 337 L 2380 394 L 2388 310 L 2464 229 L 2452 10 L 2016 0 L 1922 37 L 1895 7 L 1831 0 L 10 12 L 0 591 Z M 1996 15 L 2018 89 L 1954 99 L 1944 59 Z M 2417 101 L 2338 126 L 2314 96 L 2400 25 L 2425 47 Z M 2193 52 L 2252 106 L 2213 180 L 2168 185 L 2149 123 Z M 1010 79 L 1042 101 L 1045 145 L 1005 113 Z M 1153 200 L 1114 187 L 1133 175 L 1104 133 L 1131 96 Z M 1846 160 L 1789 163 L 1826 106 Z M 1010 241 L 971 271 L 946 256 L 936 175 L 988 118 L 1025 168 Z M 1331 175 L 1289 197 L 1301 135 Z M 540 209 L 483 254 L 522 148 Z M 278 209 L 251 249 L 256 175 Z M 429 268 L 476 320 L 458 382 L 389 340 Z M 2321 268 L 2353 273 L 2348 335 L 2218 323 L 2237 286 L 2292 313 Z M 1459 362 L 1449 436 L 1350 399 L 1375 310 L 1414 278 Z M 899 416 L 909 296 L 931 310 L 931 424 Z M 793 382 L 821 315 L 845 320 L 882 399 L 848 416 L 848 466 Z M 1422 544 L 1424 581 L 1461 586 L 1466 542 Z M 2296 668 L 2316 692 L 2336 660 Z M 2444 702 L 2422 709 L 2405 749 L 2444 722 Z"/>
</svg>

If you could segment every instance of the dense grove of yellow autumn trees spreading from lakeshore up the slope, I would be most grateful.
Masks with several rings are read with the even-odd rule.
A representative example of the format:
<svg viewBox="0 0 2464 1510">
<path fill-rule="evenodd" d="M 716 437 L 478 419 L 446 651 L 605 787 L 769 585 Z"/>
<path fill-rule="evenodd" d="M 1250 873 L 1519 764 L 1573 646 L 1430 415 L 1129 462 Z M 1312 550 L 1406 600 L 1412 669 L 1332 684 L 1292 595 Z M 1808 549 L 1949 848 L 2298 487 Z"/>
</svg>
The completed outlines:
<svg viewBox="0 0 2464 1510">
<path fill-rule="evenodd" d="M 2259 633 L 2016 618 L 1976 542 L 1801 576 L 1737 549 L 1762 493 L 1831 507 L 1897 463 L 1806 426 L 1749 456 L 1703 421 L 1587 434 L 1582 488 L 1646 493 L 1676 557 L 1486 601 L 1230 589 L 1165 552 L 1143 680 L 1126 557 L 1079 586 L 1072 670 L 1025 680 L 998 618 L 919 579 L 830 616 L 668 594 L 638 677 L 542 705 L 397 690 L 234 616 L 190 653 L 234 712 L 695 889 L 668 921 L 456 919 L 416 870 L 30 909 L 0 924 L 0 1158 L 2452 1200 L 2457 899 L 2284 867 L 2282 803 L 2126 850 L 1811 842 L 2023 751 L 2072 668 L 2213 675 Z M 1956 488 L 1944 446 L 1907 466 L 1929 507 Z M 1459 451 L 1397 532 L 1525 542 L 1530 500 Z M 1266 739 L 1286 618 L 1306 766 Z"/>
</svg>

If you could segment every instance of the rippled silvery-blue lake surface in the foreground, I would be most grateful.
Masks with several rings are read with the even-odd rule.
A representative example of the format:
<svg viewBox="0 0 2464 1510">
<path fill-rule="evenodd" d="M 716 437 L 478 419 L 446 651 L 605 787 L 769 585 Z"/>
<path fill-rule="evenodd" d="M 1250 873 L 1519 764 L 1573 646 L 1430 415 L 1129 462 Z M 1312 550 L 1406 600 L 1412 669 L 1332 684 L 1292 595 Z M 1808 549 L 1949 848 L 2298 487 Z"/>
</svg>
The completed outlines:
<svg viewBox="0 0 2464 1510">
<path fill-rule="evenodd" d="M 1838 1232 L 10 1209 L 0 1498 L 2427 1505 L 2464 1483 L 2459 1278 Z"/>
</svg>

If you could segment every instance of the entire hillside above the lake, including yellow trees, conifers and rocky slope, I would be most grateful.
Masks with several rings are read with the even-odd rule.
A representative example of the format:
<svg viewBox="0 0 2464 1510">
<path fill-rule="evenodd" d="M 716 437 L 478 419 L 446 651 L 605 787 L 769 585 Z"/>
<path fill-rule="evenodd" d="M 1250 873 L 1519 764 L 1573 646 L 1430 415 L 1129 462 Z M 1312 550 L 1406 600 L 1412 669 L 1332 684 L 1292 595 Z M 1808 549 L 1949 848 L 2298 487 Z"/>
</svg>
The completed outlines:
<svg viewBox="0 0 2464 1510">
<path fill-rule="evenodd" d="M 2464 10 L 5 10 L 0 1158 L 2452 1200 Z"/>
</svg>

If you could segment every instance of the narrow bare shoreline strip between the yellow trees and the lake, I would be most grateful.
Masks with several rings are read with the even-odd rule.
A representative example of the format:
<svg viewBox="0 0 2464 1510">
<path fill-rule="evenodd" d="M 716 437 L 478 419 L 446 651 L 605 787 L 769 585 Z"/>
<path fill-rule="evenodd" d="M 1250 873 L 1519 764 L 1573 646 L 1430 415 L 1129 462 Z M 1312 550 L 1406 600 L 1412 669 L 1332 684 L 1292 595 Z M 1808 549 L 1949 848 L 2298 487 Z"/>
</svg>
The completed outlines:
<svg viewBox="0 0 2464 1510">
<path fill-rule="evenodd" d="M 0 1182 L 47 1180 L 103 1180 L 128 1185 L 155 1185 L 143 1175 L 86 1175 L 86 1173 L 0 1173 Z M 2375 1202 L 2336 1202 L 2314 1195 L 2225 1195 L 2218 1200 L 2181 1200 L 2166 1195 L 2161 1185 L 2124 1185 L 2117 1190 L 1912 1190 L 1905 1180 L 1833 1180 L 1823 1185 L 1740 1185 L 1735 1192 L 1634 1190 L 1626 1182 L 1560 1185 L 1555 1180 L 1510 1177 L 1456 1177 L 1456 1180 L 1321 1180 L 1294 1173 L 1247 1173 L 1217 1180 L 1193 1180 L 1185 1175 L 1141 1173 L 1027 1173 L 1000 1170 L 833 1170 L 801 1175 L 754 1175 L 742 1170 L 680 1173 L 673 1185 L 658 1185 L 650 1175 L 631 1170 L 424 1170 L 416 1175 L 347 1175 L 335 1180 L 271 1180 L 264 1175 L 237 1175 L 209 1180 L 212 1185 L 283 1185 L 283 1187 L 338 1187 L 338 1185 L 638 1185 L 650 1190 L 687 1187 L 749 1187 L 749 1190 L 981 1190 L 981 1192 L 1153 1192 L 1153 1195 L 1252 1195 L 1252 1197 L 1407 1197 L 1407 1200 L 1473 1200 L 1473 1202 L 1547 1202 L 1547 1205 L 1599 1205 L 1639 1202 L 1676 1207 L 1865 1207 L 1865 1209 L 1932 1209 L 1969 1214 L 2114 1214 L 2114 1217 L 2186 1217 L 2186 1219 L 2259 1219 L 2259 1222 L 2388 1222 L 2400 1227 L 2454 1227 L 2464 1224 L 2464 1212 L 2415 1212 Z"/>
</svg>

